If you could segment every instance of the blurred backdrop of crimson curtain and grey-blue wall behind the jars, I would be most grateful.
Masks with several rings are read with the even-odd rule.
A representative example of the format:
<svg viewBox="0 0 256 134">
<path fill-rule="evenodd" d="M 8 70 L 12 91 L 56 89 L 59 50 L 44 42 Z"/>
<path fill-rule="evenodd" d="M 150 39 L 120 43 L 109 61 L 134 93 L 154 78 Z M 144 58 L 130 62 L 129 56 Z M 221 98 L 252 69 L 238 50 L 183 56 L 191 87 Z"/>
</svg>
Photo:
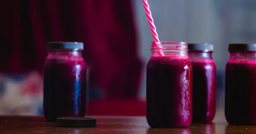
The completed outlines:
<svg viewBox="0 0 256 134">
<path fill-rule="evenodd" d="M 230 42 L 256 42 L 255 0 L 148 0 L 161 41 L 214 44 L 224 120 Z M 141 0 L 1 0 L 0 114 L 42 115 L 47 41 L 79 41 L 90 66 L 87 114 L 145 115 L 151 32 Z"/>
</svg>

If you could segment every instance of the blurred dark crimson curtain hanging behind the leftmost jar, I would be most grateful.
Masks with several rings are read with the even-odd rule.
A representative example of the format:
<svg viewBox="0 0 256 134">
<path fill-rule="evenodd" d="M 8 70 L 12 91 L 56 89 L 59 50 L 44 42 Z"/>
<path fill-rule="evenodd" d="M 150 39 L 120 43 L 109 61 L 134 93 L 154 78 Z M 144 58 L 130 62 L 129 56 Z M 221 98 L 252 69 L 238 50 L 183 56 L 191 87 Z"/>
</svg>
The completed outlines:
<svg viewBox="0 0 256 134">
<path fill-rule="evenodd" d="M 47 41 L 84 43 L 90 83 L 136 98 L 142 61 L 131 0 L 0 0 L 0 71 L 43 71 Z"/>
</svg>

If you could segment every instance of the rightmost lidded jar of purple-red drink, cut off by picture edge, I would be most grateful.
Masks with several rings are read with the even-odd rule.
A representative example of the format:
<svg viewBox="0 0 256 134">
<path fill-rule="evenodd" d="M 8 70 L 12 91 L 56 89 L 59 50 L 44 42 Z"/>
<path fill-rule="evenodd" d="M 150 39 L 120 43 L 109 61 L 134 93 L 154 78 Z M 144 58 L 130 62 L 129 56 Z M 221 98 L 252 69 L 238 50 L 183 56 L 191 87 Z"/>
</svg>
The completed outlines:
<svg viewBox="0 0 256 134">
<path fill-rule="evenodd" d="M 232 125 L 256 125 L 256 43 L 230 43 L 225 71 L 225 117 Z"/>
</svg>

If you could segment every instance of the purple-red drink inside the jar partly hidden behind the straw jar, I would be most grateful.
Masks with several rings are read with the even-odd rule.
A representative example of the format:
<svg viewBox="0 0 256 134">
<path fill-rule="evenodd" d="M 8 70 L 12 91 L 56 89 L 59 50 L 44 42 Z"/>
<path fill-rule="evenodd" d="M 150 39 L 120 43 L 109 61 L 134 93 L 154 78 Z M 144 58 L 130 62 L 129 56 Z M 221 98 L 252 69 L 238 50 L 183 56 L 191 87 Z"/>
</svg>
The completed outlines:
<svg viewBox="0 0 256 134">
<path fill-rule="evenodd" d="M 210 123 L 216 112 L 216 66 L 213 60 L 191 60 L 193 122 Z"/>
</svg>

